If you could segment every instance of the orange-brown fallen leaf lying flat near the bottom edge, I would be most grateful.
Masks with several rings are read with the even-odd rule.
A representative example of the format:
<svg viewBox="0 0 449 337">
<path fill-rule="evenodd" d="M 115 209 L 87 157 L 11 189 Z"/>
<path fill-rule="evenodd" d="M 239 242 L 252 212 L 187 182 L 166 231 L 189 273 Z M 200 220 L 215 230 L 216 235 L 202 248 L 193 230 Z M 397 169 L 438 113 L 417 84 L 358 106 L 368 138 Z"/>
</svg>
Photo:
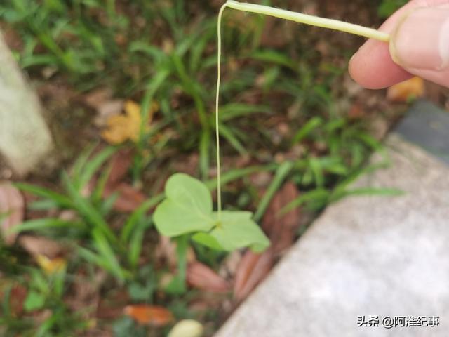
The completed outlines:
<svg viewBox="0 0 449 337">
<path fill-rule="evenodd" d="M 165 326 L 173 321 L 172 313 L 157 305 L 127 305 L 123 311 L 139 324 Z"/>
</svg>

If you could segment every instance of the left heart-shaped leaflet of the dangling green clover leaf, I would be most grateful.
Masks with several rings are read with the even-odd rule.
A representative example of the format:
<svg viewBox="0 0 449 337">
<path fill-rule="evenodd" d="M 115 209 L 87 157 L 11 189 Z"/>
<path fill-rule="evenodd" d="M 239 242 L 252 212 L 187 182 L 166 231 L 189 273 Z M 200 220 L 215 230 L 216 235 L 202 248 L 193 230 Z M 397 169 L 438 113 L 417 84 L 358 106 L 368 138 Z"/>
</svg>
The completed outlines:
<svg viewBox="0 0 449 337">
<path fill-rule="evenodd" d="M 154 212 L 157 230 L 167 237 L 211 230 L 215 219 L 206 185 L 185 173 L 175 173 L 166 183 L 166 199 Z"/>
</svg>

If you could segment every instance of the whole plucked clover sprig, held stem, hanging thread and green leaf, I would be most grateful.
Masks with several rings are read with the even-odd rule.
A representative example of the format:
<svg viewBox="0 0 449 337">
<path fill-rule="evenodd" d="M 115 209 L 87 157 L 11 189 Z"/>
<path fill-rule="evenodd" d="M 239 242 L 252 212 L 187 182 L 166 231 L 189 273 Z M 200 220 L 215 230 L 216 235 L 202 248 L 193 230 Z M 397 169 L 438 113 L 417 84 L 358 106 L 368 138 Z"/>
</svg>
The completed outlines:
<svg viewBox="0 0 449 337">
<path fill-rule="evenodd" d="M 187 249 L 189 237 L 192 237 L 199 244 L 222 251 L 233 251 L 234 249 L 249 247 L 255 252 L 260 252 L 269 246 L 269 239 L 253 220 L 253 213 L 248 211 L 222 211 L 218 107 L 222 54 L 221 21 L 223 11 L 226 8 L 270 15 L 284 20 L 335 29 L 384 42 L 389 42 L 390 38 L 387 33 L 349 22 L 319 18 L 314 15 L 257 4 L 240 3 L 233 0 L 223 4 L 218 14 L 217 27 L 217 91 L 215 100 L 217 211 L 213 211 L 212 198 L 206 185 L 187 174 L 175 173 L 166 183 L 166 199 L 159 204 L 154 212 L 154 223 L 159 232 L 167 237 L 175 238 L 177 242 L 178 276 L 172 286 L 177 284 L 178 289 L 184 288 L 185 250 Z"/>
</svg>

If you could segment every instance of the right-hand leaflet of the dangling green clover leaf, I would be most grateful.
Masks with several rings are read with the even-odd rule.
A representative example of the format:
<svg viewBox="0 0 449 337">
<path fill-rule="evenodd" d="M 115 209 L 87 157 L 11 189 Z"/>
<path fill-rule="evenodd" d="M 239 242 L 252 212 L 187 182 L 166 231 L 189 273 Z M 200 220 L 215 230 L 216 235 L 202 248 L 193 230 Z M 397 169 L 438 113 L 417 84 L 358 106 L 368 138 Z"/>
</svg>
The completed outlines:
<svg viewBox="0 0 449 337">
<path fill-rule="evenodd" d="M 210 236 L 226 251 L 246 246 L 255 252 L 264 251 L 269 246 L 269 239 L 251 219 L 252 215 L 246 211 L 222 211 L 219 220 L 218 213 L 214 212 L 217 226 L 210 231 Z"/>
</svg>

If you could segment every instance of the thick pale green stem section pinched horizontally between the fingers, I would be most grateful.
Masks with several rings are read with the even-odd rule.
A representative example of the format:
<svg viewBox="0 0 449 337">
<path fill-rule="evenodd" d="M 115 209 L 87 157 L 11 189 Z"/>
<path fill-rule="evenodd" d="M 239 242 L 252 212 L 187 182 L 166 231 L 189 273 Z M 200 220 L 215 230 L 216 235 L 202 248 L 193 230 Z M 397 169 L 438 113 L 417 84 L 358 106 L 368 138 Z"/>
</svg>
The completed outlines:
<svg viewBox="0 0 449 337">
<path fill-rule="evenodd" d="M 314 15 L 307 15 L 303 13 L 297 13 L 292 11 L 286 11 L 285 9 L 274 8 L 269 6 L 262 6 L 257 4 L 242 3 L 234 0 L 228 0 L 226 6 L 234 8 L 239 11 L 246 11 L 251 13 L 259 13 L 275 18 L 281 18 L 285 20 L 304 23 L 305 25 L 311 25 L 316 27 L 330 28 L 339 30 L 340 32 L 347 32 L 362 37 L 368 37 L 370 39 L 376 39 L 384 42 L 389 42 L 390 36 L 387 33 L 380 32 L 377 29 L 354 25 L 349 22 L 340 20 L 333 20 L 328 18 L 320 18 Z"/>
</svg>

